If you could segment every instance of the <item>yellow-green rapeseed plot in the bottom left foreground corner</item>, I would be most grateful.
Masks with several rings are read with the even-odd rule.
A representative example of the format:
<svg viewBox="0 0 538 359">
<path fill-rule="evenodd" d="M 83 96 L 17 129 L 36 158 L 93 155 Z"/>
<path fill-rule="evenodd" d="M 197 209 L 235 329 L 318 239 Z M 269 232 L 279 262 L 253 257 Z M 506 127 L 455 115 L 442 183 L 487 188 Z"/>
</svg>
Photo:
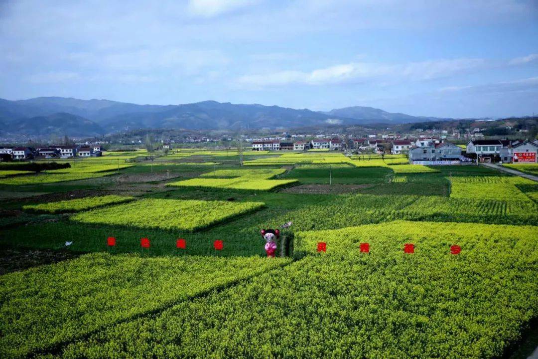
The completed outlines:
<svg viewBox="0 0 538 359">
<path fill-rule="evenodd" d="M 287 262 L 101 253 L 5 274 L 0 277 L 0 357 L 51 349 Z"/>
</svg>

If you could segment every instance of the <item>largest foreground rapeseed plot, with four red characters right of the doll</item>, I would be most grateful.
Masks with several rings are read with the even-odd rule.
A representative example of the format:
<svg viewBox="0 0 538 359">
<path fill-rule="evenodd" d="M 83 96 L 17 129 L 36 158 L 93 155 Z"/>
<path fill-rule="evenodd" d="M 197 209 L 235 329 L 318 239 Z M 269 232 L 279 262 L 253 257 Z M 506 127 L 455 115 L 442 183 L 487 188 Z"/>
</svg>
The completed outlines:
<svg viewBox="0 0 538 359">
<path fill-rule="evenodd" d="M 157 357 L 489 358 L 538 310 L 534 227 L 393 222 L 298 238 L 310 254 L 298 262 L 119 323 L 59 357 L 144 348 Z M 326 253 L 316 254 L 318 241 Z M 415 254 L 404 254 L 407 242 Z"/>
</svg>

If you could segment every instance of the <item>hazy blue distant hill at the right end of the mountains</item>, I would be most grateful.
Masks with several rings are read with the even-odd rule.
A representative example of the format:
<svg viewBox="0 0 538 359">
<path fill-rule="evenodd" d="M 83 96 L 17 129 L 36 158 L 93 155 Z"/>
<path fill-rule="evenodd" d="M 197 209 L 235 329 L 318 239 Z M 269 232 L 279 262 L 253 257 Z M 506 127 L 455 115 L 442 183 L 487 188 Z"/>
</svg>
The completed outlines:
<svg viewBox="0 0 538 359">
<path fill-rule="evenodd" d="M 423 117 L 387 112 L 373 107 L 353 106 L 330 110 L 325 114 L 337 117 L 353 118 L 360 121 L 375 121 L 385 123 L 412 123 L 426 121 L 444 121 L 451 118 Z"/>
</svg>

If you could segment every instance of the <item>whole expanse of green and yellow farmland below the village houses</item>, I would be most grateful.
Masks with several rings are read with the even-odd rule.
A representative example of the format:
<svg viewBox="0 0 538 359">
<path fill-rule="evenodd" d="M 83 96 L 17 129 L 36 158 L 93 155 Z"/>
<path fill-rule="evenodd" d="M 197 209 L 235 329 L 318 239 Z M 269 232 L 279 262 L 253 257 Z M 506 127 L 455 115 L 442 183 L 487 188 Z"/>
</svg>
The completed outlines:
<svg viewBox="0 0 538 359">
<path fill-rule="evenodd" d="M 40 173 L 0 163 L 0 357 L 524 358 L 536 347 L 536 182 L 400 155 L 243 159 L 183 149 Z M 262 229 L 280 231 L 275 258 Z"/>
</svg>

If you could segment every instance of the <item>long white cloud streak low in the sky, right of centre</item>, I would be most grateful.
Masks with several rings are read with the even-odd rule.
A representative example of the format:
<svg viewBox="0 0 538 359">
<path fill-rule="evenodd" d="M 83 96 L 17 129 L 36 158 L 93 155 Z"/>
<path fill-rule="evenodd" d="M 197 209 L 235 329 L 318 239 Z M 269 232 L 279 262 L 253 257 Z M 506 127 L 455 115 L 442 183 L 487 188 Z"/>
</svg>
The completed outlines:
<svg viewBox="0 0 538 359">
<path fill-rule="evenodd" d="M 480 68 L 486 65 L 483 59 L 454 59 L 411 62 L 409 64 L 386 65 L 369 62 L 351 62 L 310 72 L 280 71 L 266 74 L 240 76 L 239 85 L 266 87 L 293 84 L 329 85 L 364 81 L 367 79 L 430 80 L 443 78 Z"/>
</svg>

